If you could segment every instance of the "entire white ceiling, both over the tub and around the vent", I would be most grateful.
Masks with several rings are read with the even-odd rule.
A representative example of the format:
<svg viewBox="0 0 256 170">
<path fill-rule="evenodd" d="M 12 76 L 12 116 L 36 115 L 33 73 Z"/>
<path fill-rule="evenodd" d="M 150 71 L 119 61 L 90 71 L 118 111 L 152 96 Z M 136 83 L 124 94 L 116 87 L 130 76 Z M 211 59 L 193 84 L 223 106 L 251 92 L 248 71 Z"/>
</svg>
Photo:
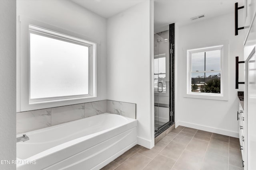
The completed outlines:
<svg viewBox="0 0 256 170">
<path fill-rule="evenodd" d="M 146 0 L 71 0 L 104 17 L 110 18 Z M 234 12 L 234 3 L 242 6 L 244 0 L 154 0 L 154 32 L 168 29 L 170 23 L 186 25 Z M 204 18 L 190 18 L 205 14 Z"/>
</svg>

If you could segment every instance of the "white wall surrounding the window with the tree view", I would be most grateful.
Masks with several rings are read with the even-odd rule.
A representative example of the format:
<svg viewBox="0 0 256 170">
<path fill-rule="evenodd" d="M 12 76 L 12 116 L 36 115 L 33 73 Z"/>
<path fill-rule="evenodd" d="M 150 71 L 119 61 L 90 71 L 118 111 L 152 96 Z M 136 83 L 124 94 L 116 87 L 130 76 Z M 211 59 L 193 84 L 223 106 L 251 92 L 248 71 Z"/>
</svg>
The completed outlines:
<svg viewBox="0 0 256 170">
<path fill-rule="evenodd" d="M 243 58 L 243 36 L 234 35 L 234 14 L 212 18 L 179 27 L 176 55 L 176 126 L 184 125 L 238 137 L 237 89 L 235 89 L 235 57 Z M 229 100 L 184 98 L 186 84 L 186 47 L 207 47 L 228 41 Z M 224 47 L 225 48 L 225 47 Z M 226 47 L 228 48 L 228 47 Z M 243 85 L 240 85 L 243 89 Z"/>
</svg>

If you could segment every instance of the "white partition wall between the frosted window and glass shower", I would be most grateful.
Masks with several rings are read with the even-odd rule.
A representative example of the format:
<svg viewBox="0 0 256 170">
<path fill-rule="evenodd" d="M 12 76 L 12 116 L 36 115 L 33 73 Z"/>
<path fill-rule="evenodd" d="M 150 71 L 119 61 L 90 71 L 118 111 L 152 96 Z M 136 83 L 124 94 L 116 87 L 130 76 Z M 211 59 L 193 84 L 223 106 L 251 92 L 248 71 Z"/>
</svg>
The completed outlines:
<svg viewBox="0 0 256 170">
<path fill-rule="evenodd" d="M 107 96 L 109 100 L 136 103 L 138 144 L 148 148 L 154 146 L 151 3 L 142 2 L 107 22 Z"/>
</svg>

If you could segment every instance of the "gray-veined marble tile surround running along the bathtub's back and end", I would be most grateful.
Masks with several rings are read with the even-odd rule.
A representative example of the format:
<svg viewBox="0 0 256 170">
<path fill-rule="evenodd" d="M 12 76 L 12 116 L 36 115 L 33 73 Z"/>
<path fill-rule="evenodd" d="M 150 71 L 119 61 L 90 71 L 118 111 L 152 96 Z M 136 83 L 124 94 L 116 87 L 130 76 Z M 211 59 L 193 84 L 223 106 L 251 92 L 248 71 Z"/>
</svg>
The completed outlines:
<svg viewBox="0 0 256 170">
<path fill-rule="evenodd" d="M 16 134 L 42 129 L 106 112 L 136 119 L 136 104 L 101 100 L 83 104 L 24 111 L 17 113 Z"/>
</svg>

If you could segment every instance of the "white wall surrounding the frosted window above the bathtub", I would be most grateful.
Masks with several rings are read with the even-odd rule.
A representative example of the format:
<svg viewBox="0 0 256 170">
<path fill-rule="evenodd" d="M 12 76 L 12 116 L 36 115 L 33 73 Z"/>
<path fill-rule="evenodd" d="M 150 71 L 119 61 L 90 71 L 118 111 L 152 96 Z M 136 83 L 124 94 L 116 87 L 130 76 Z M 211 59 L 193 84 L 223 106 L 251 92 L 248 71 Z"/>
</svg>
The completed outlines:
<svg viewBox="0 0 256 170">
<path fill-rule="evenodd" d="M 78 6 L 68 0 L 18 0 L 17 1 L 17 63 L 20 57 L 20 22 L 19 17 L 59 27 L 84 37 L 90 38 L 97 43 L 97 97 L 83 100 L 71 100 L 65 102 L 49 103 L 48 107 L 64 106 L 85 102 L 106 100 L 106 19 L 97 14 Z M 17 64 L 17 75 L 20 73 Z M 20 79 L 17 78 L 17 87 Z M 20 110 L 20 93 L 17 88 L 17 112 Z M 32 109 L 45 108 L 42 105 L 33 105 Z"/>
</svg>

